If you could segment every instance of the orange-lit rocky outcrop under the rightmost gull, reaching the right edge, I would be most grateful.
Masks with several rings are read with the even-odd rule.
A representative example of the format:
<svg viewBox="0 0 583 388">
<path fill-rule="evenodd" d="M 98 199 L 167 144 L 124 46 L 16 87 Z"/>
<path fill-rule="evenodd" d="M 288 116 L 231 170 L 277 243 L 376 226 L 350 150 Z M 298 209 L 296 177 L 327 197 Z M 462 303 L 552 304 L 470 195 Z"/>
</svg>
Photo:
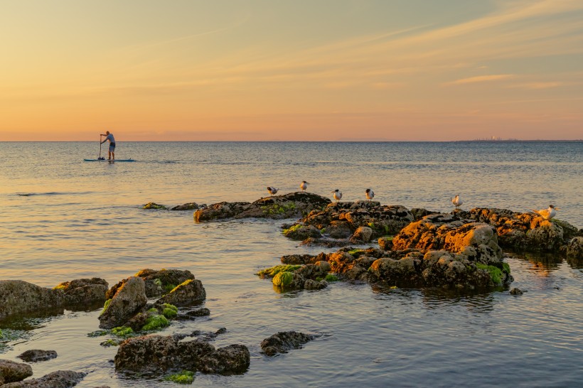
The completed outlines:
<svg viewBox="0 0 583 388">
<path fill-rule="evenodd" d="M 515 250 L 560 252 L 578 233 L 568 222 L 545 220 L 534 212 L 474 208 L 469 212 L 454 210 L 454 214 L 492 225 L 501 247 Z"/>
</svg>

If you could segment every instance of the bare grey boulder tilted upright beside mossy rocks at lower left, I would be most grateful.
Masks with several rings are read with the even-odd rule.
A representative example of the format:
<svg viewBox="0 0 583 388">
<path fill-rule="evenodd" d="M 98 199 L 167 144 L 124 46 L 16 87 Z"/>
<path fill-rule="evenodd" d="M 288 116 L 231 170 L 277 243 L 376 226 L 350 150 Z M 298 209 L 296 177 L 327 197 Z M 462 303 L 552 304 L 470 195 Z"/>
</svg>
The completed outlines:
<svg viewBox="0 0 583 388">
<path fill-rule="evenodd" d="M 110 329 L 123 325 L 146 306 L 147 302 L 144 280 L 137 276 L 129 277 L 117 288 L 109 305 L 99 316 L 100 328 Z"/>
</svg>

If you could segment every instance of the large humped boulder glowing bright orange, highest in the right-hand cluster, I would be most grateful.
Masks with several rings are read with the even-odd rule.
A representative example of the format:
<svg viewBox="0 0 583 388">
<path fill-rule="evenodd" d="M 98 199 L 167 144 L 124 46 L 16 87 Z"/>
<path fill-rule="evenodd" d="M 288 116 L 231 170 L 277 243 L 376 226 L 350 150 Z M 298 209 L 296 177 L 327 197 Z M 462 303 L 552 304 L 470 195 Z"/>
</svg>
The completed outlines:
<svg viewBox="0 0 583 388">
<path fill-rule="evenodd" d="M 502 249 L 498 246 L 496 231 L 483 222 L 467 222 L 456 215 L 428 215 L 405 227 L 392 239 L 393 250 L 444 249 L 461 254 L 470 262 L 498 264 Z"/>
</svg>

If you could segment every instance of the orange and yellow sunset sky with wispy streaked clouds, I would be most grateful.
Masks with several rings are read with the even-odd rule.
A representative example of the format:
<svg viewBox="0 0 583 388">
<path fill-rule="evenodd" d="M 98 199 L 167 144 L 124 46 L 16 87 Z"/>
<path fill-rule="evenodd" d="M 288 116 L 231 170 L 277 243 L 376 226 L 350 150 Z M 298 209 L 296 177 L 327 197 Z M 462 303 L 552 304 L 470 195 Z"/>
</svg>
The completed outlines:
<svg viewBox="0 0 583 388">
<path fill-rule="evenodd" d="M 583 139 L 581 0 L 0 9 L 0 141 Z"/>
</svg>

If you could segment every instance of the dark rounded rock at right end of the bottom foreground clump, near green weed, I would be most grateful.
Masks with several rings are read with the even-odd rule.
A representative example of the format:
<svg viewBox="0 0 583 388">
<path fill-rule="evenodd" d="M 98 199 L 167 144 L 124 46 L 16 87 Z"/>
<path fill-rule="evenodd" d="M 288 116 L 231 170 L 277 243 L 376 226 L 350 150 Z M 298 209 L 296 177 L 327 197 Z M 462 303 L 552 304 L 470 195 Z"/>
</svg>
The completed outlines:
<svg viewBox="0 0 583 388">
<path fill-rule="evenodd" d="M 245 373 L 249 369 L 251 355 L 245 345 L 220 347 L 210 355 L 200 357 L 200 372 L 214 374 Z"/>
</svg>

